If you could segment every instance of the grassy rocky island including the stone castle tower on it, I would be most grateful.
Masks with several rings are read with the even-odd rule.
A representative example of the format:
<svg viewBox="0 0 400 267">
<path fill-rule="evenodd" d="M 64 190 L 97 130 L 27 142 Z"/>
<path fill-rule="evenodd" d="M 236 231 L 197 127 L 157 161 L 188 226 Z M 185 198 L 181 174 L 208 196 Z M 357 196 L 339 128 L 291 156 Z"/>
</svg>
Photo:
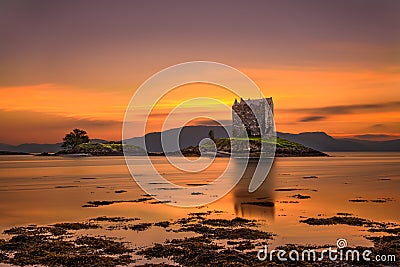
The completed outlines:
<svg viewBox="0 0 400 267">
<path fill-rule="evenodd" d="M 181 152 L 184 156 L 200 156 L 202 151 L 211 152 L 219 157 L 235 157 L 245 152 L 250 158 L 328 156 L 302 144 L 275 137 L 273 114 L 272 97 L 235 99 L 232 105 L 232 138 L 216 139 L 210 130 L 208 142 L 184 148 Z"/>
</svg>

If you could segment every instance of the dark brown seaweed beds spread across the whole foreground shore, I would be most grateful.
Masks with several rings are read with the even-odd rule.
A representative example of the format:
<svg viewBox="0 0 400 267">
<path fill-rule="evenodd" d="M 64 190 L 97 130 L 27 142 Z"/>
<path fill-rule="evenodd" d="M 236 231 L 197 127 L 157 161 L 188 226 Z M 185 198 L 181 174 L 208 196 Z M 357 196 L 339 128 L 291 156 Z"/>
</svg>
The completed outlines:
<svg viewBox="0 0 400 267">
<path fill-rule="evenodd" d="M 274 238 L 273 233 L 257 229 L 258 222 L 244 218 L 231 220 L 218 218 L 219 211 L 190 213 L 176 221 L 156 223 L 140 222 L 139 218 L 97 217 L 85 222 L 58 223 L 47 226 L 29 225 L 4 231 L 10 238 L 0 240 L 0 262 L 13 265 L 45 266 L 398 266 L 400 259 L 400 227 L 397 224 L 373 222 L 349 214 L 329 218 L 307 218 L 301 223 L 309 225 L 350 225 L 364 226 L 366 238 L 372 240 L 371 248 L 357 247 L 358 250 L 372 251 L 371 262 L 331 261 L 317 252 L 316 261 L 278 260 L 260 261 L 257 252 Z M 131 247 L 128 242 L 116 238 L 85 234 L 90 229 L 146 231 L 161 227 L 166 231 L 188 232 L 192 237 L 167 240 L 150 247 Z M 369 234 L 375 234 L 369 236 Z M 378 235 L 376 235 L 378 234 Z M 287 244 L 276 249 L 298 251 L 327 246 L 297 246 Z M 344 253 L 348 249 L 344 248 Z M 391 254 L 397 261 L 378 263 L 374 255 Z M 144 258 L 145 263 L 136 263 Z M 146 263 L 147 262 L 147 263 Z M 157 262 L 157 263 L 154 263 Z"/>
</svg>

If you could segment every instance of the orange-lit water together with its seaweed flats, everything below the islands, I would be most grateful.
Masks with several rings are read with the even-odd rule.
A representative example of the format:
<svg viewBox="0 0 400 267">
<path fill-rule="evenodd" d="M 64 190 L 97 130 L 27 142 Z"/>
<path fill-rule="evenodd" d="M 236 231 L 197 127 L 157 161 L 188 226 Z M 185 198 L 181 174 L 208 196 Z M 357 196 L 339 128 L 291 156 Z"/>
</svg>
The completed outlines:
<svg viewBox="0 0 400 267">
<path fill-rule="evenodd" d="M 194 176 L 164 158 L 153 162 L 167 179 L 197 186 L 215 179 L 227 159 Z M 250 165 L 224 198 L 176 208 L 141 191 L 122 157 L 1 156 L 0 262 L 268 266 L 279 262 L 257 259 L 264 245 L 322 248 L 339 238 L 399 259 L 399 163 L 394 153 L 277 158 L 255 193 L 247 191 Z"/>
</svg>

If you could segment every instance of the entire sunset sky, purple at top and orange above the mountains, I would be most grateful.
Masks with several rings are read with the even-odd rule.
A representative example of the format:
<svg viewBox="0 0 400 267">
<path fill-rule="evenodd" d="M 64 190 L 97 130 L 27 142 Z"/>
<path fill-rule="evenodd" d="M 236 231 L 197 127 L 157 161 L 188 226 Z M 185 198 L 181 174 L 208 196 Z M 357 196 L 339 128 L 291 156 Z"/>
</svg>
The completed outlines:
<svg viewBox="0 0 400 267">
<path fill-rule="evenodd" d="M 277 131 L 400 138 L 399 13 L 389 0 L 1 1 L 0 143 L 60 142 L 76 127 L 120 140 L 140 84 L 194 60 L 254 80 L 274 99 Z M 234 100 L 212 85 L 179 87 L 148 131 L 201 96 Z M 220 107 L 201 108 L 229 123 Z"/>
</svg>

